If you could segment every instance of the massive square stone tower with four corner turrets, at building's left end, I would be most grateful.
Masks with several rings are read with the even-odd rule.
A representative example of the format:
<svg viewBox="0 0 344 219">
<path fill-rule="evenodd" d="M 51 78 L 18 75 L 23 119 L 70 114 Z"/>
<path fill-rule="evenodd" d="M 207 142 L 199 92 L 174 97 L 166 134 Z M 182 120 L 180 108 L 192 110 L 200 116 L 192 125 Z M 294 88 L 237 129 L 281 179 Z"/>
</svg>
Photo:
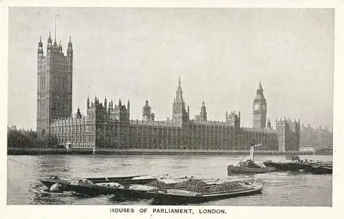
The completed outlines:
<svg viewBox="0 0 344 219">
<path fill-rule="evenodd" d="M 36 130 L 39 136 L 49 132 L 53 118 L 72 115 L 73 49 L 70 38 L 65 56 L 61 41 L 60 45 L 57 45 L 55 39 L 52 44 L 49 34 L 46 53 L 44 56 L 43 43 L 40 39 L 37 51 L 36 110 Z"/>
</svg>

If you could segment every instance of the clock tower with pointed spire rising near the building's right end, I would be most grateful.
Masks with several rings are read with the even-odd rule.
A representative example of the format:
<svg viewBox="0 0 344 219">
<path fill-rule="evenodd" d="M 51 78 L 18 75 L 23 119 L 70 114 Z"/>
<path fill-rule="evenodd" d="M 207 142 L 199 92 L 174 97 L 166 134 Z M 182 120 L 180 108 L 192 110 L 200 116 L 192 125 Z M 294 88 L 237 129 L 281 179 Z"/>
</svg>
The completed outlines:
<svg viewBox="0 0 344 219">
<path fill-rule="evenodd" d="M 266 99 L 263 94 L 263 88 L 259 81 L 257 94 L 253 99 L 253 127 L 265 128 L 266 127 Z"/>
</svg>

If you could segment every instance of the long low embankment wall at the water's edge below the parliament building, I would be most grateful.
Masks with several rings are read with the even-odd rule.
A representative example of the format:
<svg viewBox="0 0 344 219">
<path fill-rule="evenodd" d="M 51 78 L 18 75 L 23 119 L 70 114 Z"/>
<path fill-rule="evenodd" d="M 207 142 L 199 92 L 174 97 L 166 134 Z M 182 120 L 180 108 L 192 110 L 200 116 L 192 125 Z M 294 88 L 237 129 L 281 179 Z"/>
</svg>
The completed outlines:
<svg viewBox="0 0 344 219">
<path fill-rule="evenodd" d="M 244 155 L 245 150 L 206 149 L 96 149 L 94 154 L 105 155 Z M 93 154 L 92 148 L 8 148 L 8 155 Z M 255 150 L 257 155 L 308 155 L 312 152 L 278 152 Z"/>
</svg>

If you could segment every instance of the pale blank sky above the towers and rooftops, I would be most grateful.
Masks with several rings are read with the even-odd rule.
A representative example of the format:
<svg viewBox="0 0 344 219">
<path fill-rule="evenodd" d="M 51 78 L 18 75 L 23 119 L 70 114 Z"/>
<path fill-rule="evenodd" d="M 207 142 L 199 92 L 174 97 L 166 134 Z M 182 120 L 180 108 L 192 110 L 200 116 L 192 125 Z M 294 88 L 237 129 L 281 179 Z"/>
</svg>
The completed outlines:
<svg viewBox="0 0 344 219">
<path fill-rule="evenodd" d="M 129 99 L 141 119 L 147 99 L 166 120 L 180 76 L 191 118 L 204 101 L 208 120 L 236 110 L 252 127 L 261 80 L 273 127 L 332 129 L 334 10 L 254 8 L 10 8 L 8 125 L 36 126 L 36 51 L 54 40 L 55 13 L 56 41 L 73 43 L 73 112 L 97 95 Z"/>
</svg>

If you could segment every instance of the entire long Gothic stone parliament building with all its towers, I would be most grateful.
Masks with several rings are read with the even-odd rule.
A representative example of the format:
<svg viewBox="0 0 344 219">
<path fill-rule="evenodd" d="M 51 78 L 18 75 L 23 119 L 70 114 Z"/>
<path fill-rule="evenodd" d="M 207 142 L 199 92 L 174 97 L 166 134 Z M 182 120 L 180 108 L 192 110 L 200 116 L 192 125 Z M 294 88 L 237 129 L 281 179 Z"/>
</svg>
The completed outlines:
<svg viewBox="0 0 344 219">
<path fill-rule="evenodd" d="M 225 121 L 208 121 L 203 101 L 200 114 L 190 118 L 178 81 L 172 117 L 155 121 L 149 101 L 142 107 L 142 120 L 130 119 L 130 103 L 100 102 L 87 98 L 85 114 L 72 114 L 73 48 L 69 37 L 66 54 L 61 42 L 47 39 L 46 52 L 40 39 L 37 51 L 36 130 L 41 138 L 70 147 L 116 149 L 246 149 L 261 143 L 261 150 L 298 151 L 300 121 L 277 119 L 275 129 L 267 121 L 267 101 L 259 82 L 252 101 L 253 127 L 240 126 L 240 112 L 224 112 Z"/>
</svg>

